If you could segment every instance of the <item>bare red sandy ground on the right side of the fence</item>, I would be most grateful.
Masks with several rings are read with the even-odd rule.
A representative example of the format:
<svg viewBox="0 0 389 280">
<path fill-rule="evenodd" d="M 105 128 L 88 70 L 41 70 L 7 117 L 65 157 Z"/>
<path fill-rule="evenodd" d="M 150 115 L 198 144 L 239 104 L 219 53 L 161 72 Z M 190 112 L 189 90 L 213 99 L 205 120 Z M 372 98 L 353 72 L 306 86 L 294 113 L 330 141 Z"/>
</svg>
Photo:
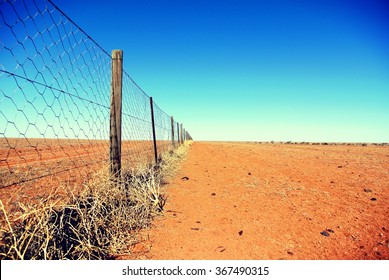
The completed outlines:
<svg viewBox="0 0 389 280">
<path fill-rule="evenodd" d="M 389 259 L 387 146 L 196 142 L 166 193 L 121 258 Z"/>
</svg>

